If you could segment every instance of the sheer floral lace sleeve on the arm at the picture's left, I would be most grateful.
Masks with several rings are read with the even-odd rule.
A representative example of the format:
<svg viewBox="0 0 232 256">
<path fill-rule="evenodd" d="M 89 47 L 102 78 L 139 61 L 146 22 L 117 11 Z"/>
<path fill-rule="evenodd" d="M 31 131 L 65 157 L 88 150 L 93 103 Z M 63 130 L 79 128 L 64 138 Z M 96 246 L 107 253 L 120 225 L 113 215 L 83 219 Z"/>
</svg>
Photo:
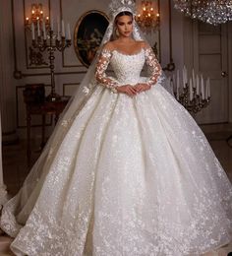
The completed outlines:
<svg viewBox="0 0 232 256">
<path fill-rule="evenodd" d="M 96 81 L 106 88 L 110 89 L 113 93 L 117 93 L 116 82 L 106 76 L 105 71 L 109 65 L 112 52 L 108 49 L 102 49 L 99 59 L 96 64 L 95 79 Z"/>
</svg>

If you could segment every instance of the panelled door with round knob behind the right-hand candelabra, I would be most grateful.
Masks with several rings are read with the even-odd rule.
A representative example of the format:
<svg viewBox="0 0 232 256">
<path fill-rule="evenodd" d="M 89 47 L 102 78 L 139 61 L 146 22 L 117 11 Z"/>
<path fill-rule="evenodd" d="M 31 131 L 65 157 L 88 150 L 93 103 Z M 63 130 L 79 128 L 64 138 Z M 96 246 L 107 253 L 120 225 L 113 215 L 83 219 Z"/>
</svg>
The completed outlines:
<svg viewBox="0 0 232 256">
<path fill-rule="evenodd" d="M 196 115 L 200 124 L 229 121 L 228 25 L 195 24 L 194 66 L 210 78 L 211 102 Z"/>
</svg>

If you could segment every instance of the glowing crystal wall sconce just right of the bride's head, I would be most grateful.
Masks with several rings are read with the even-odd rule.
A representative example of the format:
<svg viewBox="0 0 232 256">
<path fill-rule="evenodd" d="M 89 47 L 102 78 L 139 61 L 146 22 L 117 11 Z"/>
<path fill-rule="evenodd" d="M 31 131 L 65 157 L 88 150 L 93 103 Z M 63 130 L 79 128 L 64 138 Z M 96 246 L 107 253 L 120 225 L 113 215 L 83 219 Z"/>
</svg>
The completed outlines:
<svg viewBox="0 0 232 256">
<path fill-rule="evenodd" d="M 139 7 L 136 21 L 145 33 L 156 32 L 159 29 L 159 13 L 155 10 L 152 0 L 143 0 Z"/>
</svg>

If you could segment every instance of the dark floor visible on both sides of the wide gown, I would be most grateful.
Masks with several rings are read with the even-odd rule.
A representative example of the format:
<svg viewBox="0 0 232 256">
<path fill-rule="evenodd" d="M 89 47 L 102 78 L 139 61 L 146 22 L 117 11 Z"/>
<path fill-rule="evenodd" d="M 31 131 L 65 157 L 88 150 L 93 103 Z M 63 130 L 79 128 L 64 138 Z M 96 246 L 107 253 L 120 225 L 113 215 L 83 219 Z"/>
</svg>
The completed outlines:
<svg viewBox="0 0 232 256">
<path fill-rule="evenodd" d="M 231 135 L 229 132 L 214 132 L 205 134 L 209 144 L 211 145 L 216 157 L 220 160 L 223 168 L 225 169 L 229 179 L 232 182 L 232 139 L 226 142 L 226 139 Z M 24 179 L 29 173 L 29 166 L 27 164 L 27 149 L 26 141 L 20 141 L 17 145 L 3 146 L 3 171 L 4 182 L 7 190 L 11 196 L 15 195 L 22 186 Z M 31 165 L 39 157 L 39 142 L 32 141 L 32 156 Z M 0 255 L 1 254 L 1 239 L 0 237 Z M 4 240 L 5 241 L 5 240 Z M 10 239 L 9 239 L 10 241 Z M 231 252 L 231 253 L 229 253 Z M 218 254 L 206 255 L 220 255 L 232 256 L 232 245 L 227 246 L 225 249 L 220 250 Z"/>
</svg>

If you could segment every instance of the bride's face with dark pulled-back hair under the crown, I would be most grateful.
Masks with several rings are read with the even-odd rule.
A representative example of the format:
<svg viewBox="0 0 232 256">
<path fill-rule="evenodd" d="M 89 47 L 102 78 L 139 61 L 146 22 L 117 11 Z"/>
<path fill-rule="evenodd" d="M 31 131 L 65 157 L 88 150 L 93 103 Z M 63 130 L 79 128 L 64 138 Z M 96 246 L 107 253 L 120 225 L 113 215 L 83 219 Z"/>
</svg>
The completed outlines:
<svg viewBox="0 0 232 256">
<path fill-rule="evenodd" d="M 117 18 L 116 27 L 119 36 L 129 37 L 133 32 L 133 19 L 131 16 L 124 15 Z"/>
</svg>

